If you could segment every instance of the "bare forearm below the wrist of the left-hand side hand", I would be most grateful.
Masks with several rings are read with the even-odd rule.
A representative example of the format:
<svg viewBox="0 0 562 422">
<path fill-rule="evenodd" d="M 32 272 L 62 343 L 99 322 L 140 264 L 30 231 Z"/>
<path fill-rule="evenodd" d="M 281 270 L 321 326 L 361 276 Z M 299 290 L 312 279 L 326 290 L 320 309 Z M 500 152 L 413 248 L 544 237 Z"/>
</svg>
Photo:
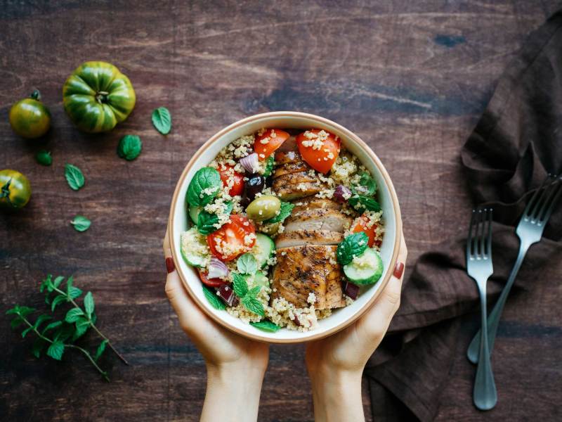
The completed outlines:
<svg viewBox="0 0 562 422">
<path fill-rule="evenodd" d="M 263 371 L 207 366 L 202 422 L 257 421 Z"/>
</svg>

